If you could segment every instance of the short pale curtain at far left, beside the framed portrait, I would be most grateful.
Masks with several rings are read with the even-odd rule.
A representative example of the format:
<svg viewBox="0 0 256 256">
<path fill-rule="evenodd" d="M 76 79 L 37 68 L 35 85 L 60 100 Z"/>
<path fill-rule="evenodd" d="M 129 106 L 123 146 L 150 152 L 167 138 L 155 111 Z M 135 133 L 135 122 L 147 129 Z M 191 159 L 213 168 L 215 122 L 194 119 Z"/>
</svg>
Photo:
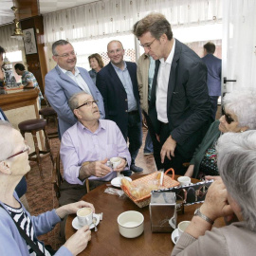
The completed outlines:
<svg viewBox="0 0 256 256">
<path fill-rule="evenodd" d="M 0 46 L 2 46 L 7 52 L 22 50 L 24 48 L 23 40 L 10 38 L 14 33 L 14 28 L 14 23 L 0 27 Z"/>
</svg>

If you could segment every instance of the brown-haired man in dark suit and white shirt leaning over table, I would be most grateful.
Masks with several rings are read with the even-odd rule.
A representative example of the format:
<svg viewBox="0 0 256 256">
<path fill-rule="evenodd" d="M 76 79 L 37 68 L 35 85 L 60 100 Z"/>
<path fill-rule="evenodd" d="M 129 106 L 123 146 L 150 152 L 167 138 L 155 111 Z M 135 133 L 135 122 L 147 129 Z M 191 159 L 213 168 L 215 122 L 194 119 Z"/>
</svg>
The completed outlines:
<svg viewBox="0 0 256 256">
<path fill-rule="evenodd" d="M 207 67 L 188 46 L 174 39 L 164 15 L 151 13 L 134 31 L 145 54 L 153 57 L 155 77 L 149 117 L 160 141 L 164 169 L 184 174 L 210 124 Z"/>
</svg>

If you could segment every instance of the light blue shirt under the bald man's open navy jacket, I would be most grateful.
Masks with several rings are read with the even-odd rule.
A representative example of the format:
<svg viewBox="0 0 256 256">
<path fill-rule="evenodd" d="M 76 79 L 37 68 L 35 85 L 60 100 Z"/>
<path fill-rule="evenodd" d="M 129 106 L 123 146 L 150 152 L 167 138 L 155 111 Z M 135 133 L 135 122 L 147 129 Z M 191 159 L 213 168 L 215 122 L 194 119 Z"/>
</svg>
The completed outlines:
<svg viewBox="0 0 256 256">
<path fill-rule="evenodd" d="M 112 63 L 111 63 L 112 64 Z M 125 92 L 127 94 L 127 100 L 128 100 L 128 112 L 137 110 L 137 101 L 135 99 L 134 95 L 134 89 L 133 89 L 133 82 L 131 80 L 129 71 L 127 69 L 127 65 L 124 62 L 124 69 L 121 70 L 118 66 L 115 64 L 112 64 L 114 69 L 116 70 L 119 80 L 122 83 Z"/>
</svg>

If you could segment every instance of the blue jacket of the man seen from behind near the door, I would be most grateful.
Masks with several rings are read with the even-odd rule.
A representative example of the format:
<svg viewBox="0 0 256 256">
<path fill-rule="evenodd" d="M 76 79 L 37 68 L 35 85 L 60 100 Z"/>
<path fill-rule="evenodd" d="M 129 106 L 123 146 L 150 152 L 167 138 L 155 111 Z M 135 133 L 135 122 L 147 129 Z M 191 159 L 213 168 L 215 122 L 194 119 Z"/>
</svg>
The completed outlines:
<svg viewBox="0 0 256 256">
<path fill-rule="evenodd" d="M 207 85 L 210 96 L 221 96 L 221 59 L 213 54 L 207 54 L 202 58 L 207 65 L 208 78 Z"/>
</svg>

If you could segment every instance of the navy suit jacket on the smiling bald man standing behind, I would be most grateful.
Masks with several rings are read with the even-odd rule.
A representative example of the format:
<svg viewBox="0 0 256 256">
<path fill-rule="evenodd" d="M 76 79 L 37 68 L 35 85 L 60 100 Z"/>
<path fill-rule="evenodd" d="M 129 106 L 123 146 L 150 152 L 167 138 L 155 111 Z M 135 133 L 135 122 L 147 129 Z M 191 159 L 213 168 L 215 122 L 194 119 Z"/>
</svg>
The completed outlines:
<svg viewBox="0 0 256 256">
<path fill-rule="evenodd" d="M 137 89 L 137 64 L 125 62 L 133 83 L 137 109 L 141 120 L 139 95 Z M 97 73 L 96 85 L 101 92 L 104 101 L 105 119 L 115 121 L 123 135 L 127 138 L 128 131 L 128 101 L 126 91 L 119 80 L 119 76 L 111 63 L 104 66 Z"/>
</svg>

